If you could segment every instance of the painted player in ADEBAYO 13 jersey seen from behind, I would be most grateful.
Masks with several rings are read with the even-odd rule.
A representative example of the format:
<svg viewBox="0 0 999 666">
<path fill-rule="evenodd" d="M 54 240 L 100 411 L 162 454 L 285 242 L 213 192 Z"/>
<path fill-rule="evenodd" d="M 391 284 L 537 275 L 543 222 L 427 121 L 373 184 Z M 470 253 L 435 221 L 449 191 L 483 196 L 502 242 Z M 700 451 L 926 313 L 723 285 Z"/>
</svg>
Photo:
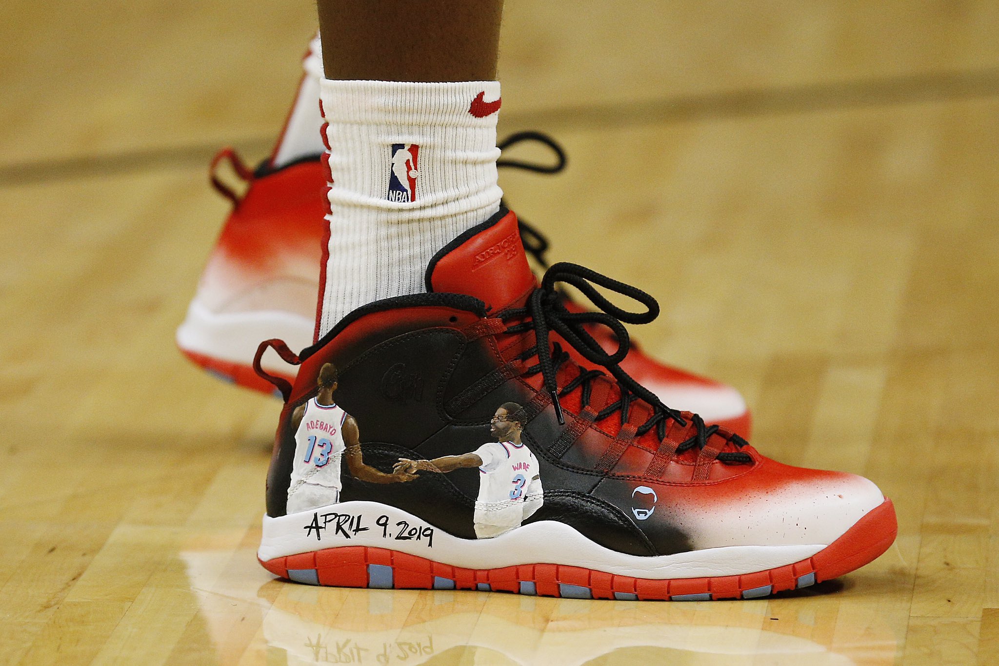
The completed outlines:
<svg viewBox="0 0 999 666">
<path fill-rule="evenodd" d="M 345 455 L 351 475 L 362 481 L 393 483 L 417 478 L 402 470 L 386 474 L 365 464 L 358 423 L 333 397 L 337 379 L 337 367 L 324 364 L 317 379 L 319 393 L 292 412 L 295 462 L 288 487 L 289 513 L 340 501 L 340 463 Z"/>
</svg>

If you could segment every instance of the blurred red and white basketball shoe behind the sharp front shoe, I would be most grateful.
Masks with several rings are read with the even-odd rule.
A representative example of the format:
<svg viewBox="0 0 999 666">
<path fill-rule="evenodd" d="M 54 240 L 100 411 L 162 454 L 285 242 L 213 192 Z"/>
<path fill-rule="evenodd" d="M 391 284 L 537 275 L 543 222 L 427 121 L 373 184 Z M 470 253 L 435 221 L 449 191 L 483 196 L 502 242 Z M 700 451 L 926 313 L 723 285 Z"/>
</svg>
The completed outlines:
<svg viewBox="0 0 999 666">
<path fill-rule="evenodd" d="M 522 132 L 500 143 L 505 150 L 522 141 L 547 145 L 556 160 L 552 166 L 500 160 L 500 167 L 539 173 L 557 173 L 564 153 L 551 139 L 536 132 Z M 217 175 L 228 162 L 248 188 L 238 196 Z M 319 266 L 326 204 L 325 171 L 320 156 L 273 169 L 265 162 L 253 172 L 231 150 L 212 162 L 214 187 L 234 205 L 218 243 L 201 276 L 184 323 L 177 330 L 177 344 L 191 360 L 213 374 L 239 385 L 270 392 L 271 384 L 253 371 L 254 351 L 262 339 L 280 337 L 296 349 L 314 339 Z M 546 268 L 547 240 L 521 222 L 523 245 L 539 266 Z M 565 299 L 569 310 L 582 309 Z M 614 333 L 587 325 L 587 331 L 605 348 L 613 348 Z M 269 372 L 293 380 L 290 368 L 266 357 Z M 749 436 L 751 415 L 737 390 L 720 381 L 660 363 L 644 354 L 632 341 L 621 367 L 666 404 L 701 414 Z"/>
</svg>

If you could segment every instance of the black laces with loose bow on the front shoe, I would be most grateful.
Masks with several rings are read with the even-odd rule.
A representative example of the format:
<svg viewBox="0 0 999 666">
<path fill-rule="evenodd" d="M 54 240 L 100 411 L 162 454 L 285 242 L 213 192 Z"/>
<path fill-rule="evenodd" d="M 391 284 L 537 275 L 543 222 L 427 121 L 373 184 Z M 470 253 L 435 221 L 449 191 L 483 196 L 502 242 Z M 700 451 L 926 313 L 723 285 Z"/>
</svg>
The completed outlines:
<svg viewBox="0 0 999 666">
<path fill-rule="evenodd" d="M 555 291 L 556 283 L 565 283 L 575 287 L 602 312 L 570 313 L 562 305 L 561 296 Z M 600 295 L 593 287 L 594 284 L 637 301 L 645 307 L 645 312 L 635 313 L 618 308 Z M 586 407 L 592 393 L 591 383 L 593 379 L 604 375 L 604 372 L 580 367 L 579 374 L 559 389 L 556 373 L 561 364 L 569 360 L 569 354 L 562 350 L 558 342 L 551 343 L 548 352 L 543 351 L 548 349 L 548 333 L 550 331 L 561 335 L 587 360 L 605 367 L 617 380 L 620 397 L 596 412 L 594 420 L 601 420 L 620 410 L 621 423 L 626 423 L 631 403 L 640 399 L 652 407 L 652 414 L 638 426 L 635 435 L 641 436 L 654 427 L 661 442 L 666 436 L 666 426 L 669 419 L 681 427 L 686 427 L 687 420 L 679 411 L 663 404 L 655 393 L 635 381 L 619 365 L 630 348 L 627 330 L 621 322 L 648 324 L 658 317 L 658 314 L 659 306 L 655 299 L 638 288 L 613 280 L 577 264 L 559 262 L 544 273 L 541 286 L 530 294 L 525 307 L 501 313 L 500 319 L 504 322 L 526 319 L 520 324 L 507 327 L 506 333 L 534 332 L 534 345 L 521 353 L 519 358 L 526 360 L 531 356 L 537 356 L 538 362 L 525 368 L 524 374 L 529 376 L 541 373 L 544 389 L 551 397 L 559 424 L 564 424 L 565 421 L 558 397 L 580 388 L 580 404 L 582 407 Z M 607 327 L 614 333 L 617 339 L 617 348 L 613 353 L 605 351 L 599 342 L 586 331 L 585 326 L 592 324 Z M 717 425 L 705 425 L 703 419 L 697 414 L 691 416 L 691 422 L 694 426 L 693 435 L 677 446 L 674 455 L 694 447 L 704 448 L 708 438 L 713 434 L 724 436 L 736 448 L 741 448 L 747 443 L 745 439 L 736 434 L 720 432 Z M 742 451 L 721 451 L 716 455 L 716 459 L 731 463 L 752 462 L 752 457 Z"/>
</svg>

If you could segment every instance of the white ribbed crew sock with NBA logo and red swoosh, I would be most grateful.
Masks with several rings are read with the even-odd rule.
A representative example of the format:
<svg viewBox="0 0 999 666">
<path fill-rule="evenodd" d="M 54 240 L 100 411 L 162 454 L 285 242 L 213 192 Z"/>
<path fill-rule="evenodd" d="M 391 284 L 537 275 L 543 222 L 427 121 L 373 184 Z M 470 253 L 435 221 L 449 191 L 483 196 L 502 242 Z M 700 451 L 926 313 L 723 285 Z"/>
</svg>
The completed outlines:
<svg viewBox="0 0 999 666">
<path fill-rule="evenodd" d="M 499 211 L 502 192 L 499 82 L 324 79 L 320 94 L 332 176 L 322 336 L 361 306 L 425 292 L 430 260 Z"/>
</svg>

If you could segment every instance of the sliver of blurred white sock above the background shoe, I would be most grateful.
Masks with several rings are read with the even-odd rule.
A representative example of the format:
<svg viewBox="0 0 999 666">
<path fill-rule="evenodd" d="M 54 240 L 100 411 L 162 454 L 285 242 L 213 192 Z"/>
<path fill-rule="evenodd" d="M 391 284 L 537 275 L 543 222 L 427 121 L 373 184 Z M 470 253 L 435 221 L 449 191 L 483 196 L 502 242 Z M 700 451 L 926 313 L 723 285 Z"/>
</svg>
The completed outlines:
<svg viewBox="0 0 999 666">
<path fill-rule="evenodd" d="M 305 72 L 295 105 L 271 158 L 271 166 L 275 169 L 321 155 L 326 150 L 320 136 L 323 116 L 319 111 L 319 82 L 323 80 L 323 50 L 318 34 L 309 43 L 309 53 L 302 61 L 302 69 Z"/>
</svg>

